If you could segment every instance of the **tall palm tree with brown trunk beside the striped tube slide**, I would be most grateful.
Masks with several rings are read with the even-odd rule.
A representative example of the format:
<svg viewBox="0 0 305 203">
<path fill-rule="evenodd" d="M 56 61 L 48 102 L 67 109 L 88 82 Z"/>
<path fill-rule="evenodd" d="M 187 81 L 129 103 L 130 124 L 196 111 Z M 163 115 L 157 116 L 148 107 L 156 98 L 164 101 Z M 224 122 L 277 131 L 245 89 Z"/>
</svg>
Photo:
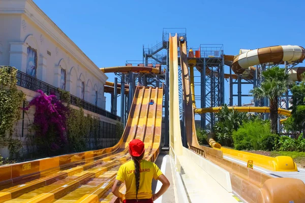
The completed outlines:
<svg viewBox="0 0 305 203">
<path fill-rule="evenodd" d="M 289 76 L 285 74 L 285 69 L 279 66 L 271 67 L 262 72 L 265 81 L 260 87 L 250 90 L 254 97 L 261 99 L 269 98 L 270 101 L 270 125 L 272 133 L 278 132 L 278 100 L 286 91 L 289 85 Z"/>
</svg>

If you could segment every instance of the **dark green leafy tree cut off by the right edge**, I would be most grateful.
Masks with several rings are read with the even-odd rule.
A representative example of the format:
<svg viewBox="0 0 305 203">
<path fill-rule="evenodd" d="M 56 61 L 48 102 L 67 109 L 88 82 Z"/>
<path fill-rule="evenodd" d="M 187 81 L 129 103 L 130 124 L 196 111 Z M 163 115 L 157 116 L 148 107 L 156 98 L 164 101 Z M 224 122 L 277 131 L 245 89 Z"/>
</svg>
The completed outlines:
<svg viewBox="0 0 305 203">
<path fill-rule="evenodd" d="M 284 122 L 286 129 L 305 133 L 305 80 L 291 88 L 291 116 Z"/>
</svg>

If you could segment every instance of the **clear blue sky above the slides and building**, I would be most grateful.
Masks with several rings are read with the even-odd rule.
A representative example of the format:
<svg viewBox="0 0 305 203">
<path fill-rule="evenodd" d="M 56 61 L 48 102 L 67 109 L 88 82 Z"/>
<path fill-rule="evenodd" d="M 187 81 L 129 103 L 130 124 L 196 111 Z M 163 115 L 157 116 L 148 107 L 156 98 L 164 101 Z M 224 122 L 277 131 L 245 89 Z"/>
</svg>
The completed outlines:
<svg viewBox="0 0 305 203">
<path fill-rule="evenodd" d="M 188 47 L 223 44 L 224 53 L 229 55 L 238 54 L 240 48 L 305 46 L 302 0 L 34 2 L 99 67 L 142 60 L 142 46 L 162 41 L 164 27 L 187 28 Z M 225 67 L 228 73 L 229 67 Z M 107 76 L 114 80 L 114 74 Z M 244 85 L 242 93 L 248 94 L 250 89 L 252 86 Z M 110 111 L 110 94 L 105 95 Z M 226 82 L 226 103 L 228 99 Z M 242 103 L 249 100 L 245 97 Z"/>
</svg>

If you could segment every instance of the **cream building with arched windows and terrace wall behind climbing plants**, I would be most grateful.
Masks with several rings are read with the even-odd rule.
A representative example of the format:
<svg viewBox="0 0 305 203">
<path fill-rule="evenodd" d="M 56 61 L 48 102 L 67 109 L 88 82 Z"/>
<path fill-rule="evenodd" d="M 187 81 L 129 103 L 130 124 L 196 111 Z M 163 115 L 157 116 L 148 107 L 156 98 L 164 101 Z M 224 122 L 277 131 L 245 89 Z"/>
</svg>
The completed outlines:
<svg viewBox="0 0 305 203">
<path fill-rule="evenodd" d="M 98 142 L 90 138 L 88 147 L 94 142 L 103 147 L 116 142 L 120 118 L 105 110 L 107 76 L 32 0 L 0 0 L 0 27 L 0 65 L 19 70 L 17 87 L 28 101 L 39 95 L 37 89 L 46 93 L 50 89 L 58 92 L 57 88 L 69 91 L 72 105 L 78 97 L 85 116 L 100 120 Z M 26 114 L 22 111 L 13 137 L 20 139 L 26 154 L 26 136 L 32 136 L 28 126 L 33 123 L 35 107 Z M 8 146 L 1 146 L 0 154 L 8 157 Z"/>
</svg>

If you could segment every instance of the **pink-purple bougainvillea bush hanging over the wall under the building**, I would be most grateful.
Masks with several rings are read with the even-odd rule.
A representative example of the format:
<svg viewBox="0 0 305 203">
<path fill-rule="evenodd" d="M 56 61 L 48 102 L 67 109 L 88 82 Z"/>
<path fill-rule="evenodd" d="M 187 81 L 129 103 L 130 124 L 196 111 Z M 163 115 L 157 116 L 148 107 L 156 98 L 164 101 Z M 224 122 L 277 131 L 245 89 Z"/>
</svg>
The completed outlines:
<svg viewBox="0 0 305 203">
<path fill-rule="evenodd" d="M 57 99 L 54 93 L 47 95 L 42 90 L 37 90 L 37 92 L 40 95 L 25 108 L 28 110 L 31 106 L 36 107 L 33 123 L 35 136 L 49 150 L 55 151 L 63 148 L 67 143 L 66 126 L 69 108 Z"/>
</svg>

